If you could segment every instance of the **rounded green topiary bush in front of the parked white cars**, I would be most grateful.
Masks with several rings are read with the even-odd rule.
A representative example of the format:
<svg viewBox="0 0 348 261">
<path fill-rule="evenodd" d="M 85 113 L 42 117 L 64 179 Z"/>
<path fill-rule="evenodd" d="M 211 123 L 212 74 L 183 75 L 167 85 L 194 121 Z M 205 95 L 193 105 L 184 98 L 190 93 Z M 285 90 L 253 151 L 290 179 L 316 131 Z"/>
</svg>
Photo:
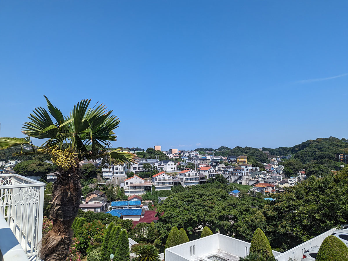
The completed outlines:
<svg viewBox="0 0 348 261">
<path fill-rule="evenodd" d="M 328 236 L 319 247 L 316 261 L 348 261 L 348 247 L 335 236 Z"/>
</svg>

